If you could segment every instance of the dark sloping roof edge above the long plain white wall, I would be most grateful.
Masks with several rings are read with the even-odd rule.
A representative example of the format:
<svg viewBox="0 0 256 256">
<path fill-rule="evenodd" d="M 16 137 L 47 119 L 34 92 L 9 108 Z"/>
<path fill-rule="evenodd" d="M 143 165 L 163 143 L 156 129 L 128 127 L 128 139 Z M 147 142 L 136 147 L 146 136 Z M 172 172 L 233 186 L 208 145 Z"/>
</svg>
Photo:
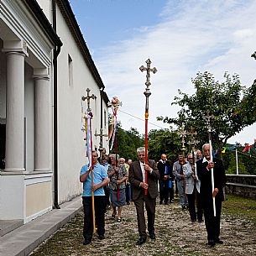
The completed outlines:
<svg viewBox="0 0 256 256">
<path fill-rule="evenodd" d="M 29 1 L 29 0 L 28 0 Z M 86 65 L 88 66 L 89 70 L 91 71 L 91 74 L 94 78 L 94 80 L 97 82 L 97 86 L 101 88 L 105 88 L 102 78 L 97 71 L 97 67 L 94 64 L 94 61 L 91 58 L 90 51 L 88 50 L 88 47 L 86 45 L 86 41 L 83 38 L 83 35 L 81 34 L 81 30 L 79 28 L 79 25 L 77 24 L 75 15 L 71 9 L 71 5 L 68 2 L 68 0 L 55 0 L 55 2 L 58 4 L 60 8 L 60 12 L 65 18 L 65 22 L 67 26 L 69 27 L 71 34 L 73 35 L 76 44 L 78 45 L 79 49 L 81 50 L 81 54 L 84 56 L 86 60 Z"/>
</svg>

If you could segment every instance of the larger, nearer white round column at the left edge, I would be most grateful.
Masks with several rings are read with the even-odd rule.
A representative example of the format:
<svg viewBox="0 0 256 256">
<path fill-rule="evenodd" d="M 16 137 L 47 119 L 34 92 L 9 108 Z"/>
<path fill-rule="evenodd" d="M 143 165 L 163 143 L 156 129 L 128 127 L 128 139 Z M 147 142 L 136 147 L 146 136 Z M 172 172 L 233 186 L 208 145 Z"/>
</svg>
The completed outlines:
<svg viewBox="0 0 256 256">
<path fill-rule="evenodd" d="M 24 171 L 24 58 L 7 53 L 5 171 Z"/>
</svg>

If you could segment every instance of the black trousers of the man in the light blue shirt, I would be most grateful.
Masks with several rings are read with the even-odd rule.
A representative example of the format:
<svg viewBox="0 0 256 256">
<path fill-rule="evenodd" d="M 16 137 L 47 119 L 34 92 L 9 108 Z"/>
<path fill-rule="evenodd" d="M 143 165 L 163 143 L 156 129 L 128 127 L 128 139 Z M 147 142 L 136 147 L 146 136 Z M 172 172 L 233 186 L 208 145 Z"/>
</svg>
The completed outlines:
<svg viewBox="0 0 256 256">
<path fill-rule="evenodd" d="M 97 225 L 97 234 L 99 236 L 104 235 L 105 233 L 105 201 L 105 196 L 94 196 L 95 221 Z M 85 213 L 83 236 L 85 240 L 91 241 L 93 233 L 91 196 L 83 196 L 82 204 Z"/>
</svg>

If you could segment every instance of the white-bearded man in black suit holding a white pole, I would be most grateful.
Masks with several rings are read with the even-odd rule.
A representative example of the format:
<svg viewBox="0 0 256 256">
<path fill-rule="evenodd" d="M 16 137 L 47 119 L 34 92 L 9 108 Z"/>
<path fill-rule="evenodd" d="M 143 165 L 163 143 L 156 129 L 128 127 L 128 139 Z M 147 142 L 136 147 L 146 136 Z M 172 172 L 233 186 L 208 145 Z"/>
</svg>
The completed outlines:
<svg viewBox="0 0 256 256">
<path fill-rule="evenodd" d="M 196 162 L 196 170 L 198 179 L 201 180 L 201 204 L 205 215 L 208 244 L 213 247 L 215 243 L 223 243 L 219 235 L 222 201 L 224 201 L 222 189 L 226 183 L 226 175 L 222 160 L 213 159 L 211 162 L 210 145 L 204 144 L 202 150 L 204 158 Z M 214 189 L 212 189 L 212 168 Z M 216 217 L 213 214 L 213 197 L 215 197 Z"/>
</svg>

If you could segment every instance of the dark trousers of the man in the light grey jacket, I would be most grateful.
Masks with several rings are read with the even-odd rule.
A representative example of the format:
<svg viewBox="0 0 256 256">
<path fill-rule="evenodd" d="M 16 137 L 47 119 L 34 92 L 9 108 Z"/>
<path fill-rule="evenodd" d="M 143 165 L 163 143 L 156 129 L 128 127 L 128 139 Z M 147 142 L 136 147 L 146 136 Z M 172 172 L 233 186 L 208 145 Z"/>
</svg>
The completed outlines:
<svg viewBox="0 0 256 256">
<path fill-rule="evenodd" d="M 201 221 L 202 220 L 202 208 L 201 208 L 201 200 L 200 194 L 194 189 L 192 194 L 186 194 L 187 200 L 189 201 L 189 212 L 192 220 Z M 196 212 L 196 204 L 197 204 L 197 212 Z"/>
</svg>

